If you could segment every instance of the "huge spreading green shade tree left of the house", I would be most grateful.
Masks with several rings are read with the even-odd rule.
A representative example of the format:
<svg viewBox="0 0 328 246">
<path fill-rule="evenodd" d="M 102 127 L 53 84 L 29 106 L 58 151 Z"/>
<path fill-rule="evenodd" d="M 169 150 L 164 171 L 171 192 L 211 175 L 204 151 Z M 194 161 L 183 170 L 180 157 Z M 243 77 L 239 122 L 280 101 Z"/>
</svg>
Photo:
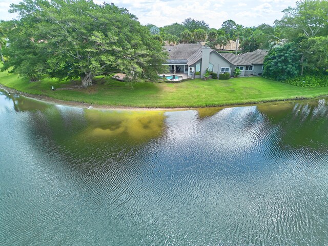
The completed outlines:
<svg viewBox="0 0 328 246">
<path fill-rule="evenodd" d="M 155 79 L 166 69 L 160 42 L 124 8 L 86 0 L 25 0 L 10 11 L 19 18 L 11 22 L 3 70 L 12 67 L 31 79 L 44 73 L 80 77 L 88 87 L 100 74 Z"/>
</svg>

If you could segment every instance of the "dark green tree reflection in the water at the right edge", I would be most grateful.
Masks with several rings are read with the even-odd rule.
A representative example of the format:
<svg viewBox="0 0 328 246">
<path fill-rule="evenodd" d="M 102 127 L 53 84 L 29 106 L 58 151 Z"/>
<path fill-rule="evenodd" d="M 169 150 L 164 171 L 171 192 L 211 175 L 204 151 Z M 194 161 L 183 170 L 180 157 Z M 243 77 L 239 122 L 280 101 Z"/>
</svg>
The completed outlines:
<svg viewBox="0 0 328 246">
<path fill-rule="evenodd" d="M 328 101 L 293 101 L 258 105 L 257 109 L 271 124 L 283 145 L 327 150 Z"/>
</svg>

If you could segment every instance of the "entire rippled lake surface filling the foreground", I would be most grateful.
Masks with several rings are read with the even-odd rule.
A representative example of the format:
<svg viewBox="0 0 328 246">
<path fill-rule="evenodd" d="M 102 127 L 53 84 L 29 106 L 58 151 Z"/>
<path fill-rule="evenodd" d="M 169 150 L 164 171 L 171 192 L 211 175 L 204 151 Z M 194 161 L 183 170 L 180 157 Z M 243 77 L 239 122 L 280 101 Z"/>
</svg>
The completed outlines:
<svg viewBox="0 0 328 246">
<path fill-rule="evenodd" d="M 0 92 L 0 245 L 328 245 L 328 100 L 97 111 Z"/>
</svg>

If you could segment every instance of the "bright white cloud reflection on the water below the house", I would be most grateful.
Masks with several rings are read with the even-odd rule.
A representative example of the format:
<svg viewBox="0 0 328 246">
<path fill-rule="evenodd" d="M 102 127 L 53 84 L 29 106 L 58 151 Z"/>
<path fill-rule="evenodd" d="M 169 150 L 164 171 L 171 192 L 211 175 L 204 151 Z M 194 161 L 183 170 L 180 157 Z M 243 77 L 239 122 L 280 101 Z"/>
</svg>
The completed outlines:
<svg viewBox="0 0 328 246">
<path fill-rule="evenodd" d="M 211 151 L 254 148 L 265 137 L 263 116 L 256 106 L 224 108 L 213 116 L 199 119 L 198 112 L 167 112 L 168 139 L 172 145 L 202 146 Z"/>
</svg>

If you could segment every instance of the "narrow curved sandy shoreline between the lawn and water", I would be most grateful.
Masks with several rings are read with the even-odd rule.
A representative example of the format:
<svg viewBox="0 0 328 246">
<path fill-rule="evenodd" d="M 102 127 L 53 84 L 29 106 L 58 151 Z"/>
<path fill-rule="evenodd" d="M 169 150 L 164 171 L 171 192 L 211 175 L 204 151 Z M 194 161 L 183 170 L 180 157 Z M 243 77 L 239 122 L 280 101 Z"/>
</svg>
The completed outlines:
<svg viewBox="0 0 328 246">
<path fill-rule="evenodd" d="M 250 103 L 208 106 L 208 107 L 151 108 L 151 107 L 96 105 L 96 104 L 80 103 L 78 101 L 65 101 L 65 100 L 55 99 L 55 98 L 52 98 L 50 96 L 34 95 L 34 94 L 18 91 L 16 89 L 6 87 L 2 84 L 0 84 L 0 89 L 6 91 L 7 93 L 18 94 L 18 95 L 24 96 L 24 97 L 29 98 L 29 99 L 40 101 L 42 103 L 69 106 L 69 107 L 77 107 L 77 108 L 95 109 L 95 110 L 127 110 L 127 111 L 161 111 L 161 110 L 166 110 L 166 111 L 172 110 L 172 111 L 174 111 L 174 110 L 188 110 L 188 109 L 200 109 L 200 108 L 241 107 L 241 106 L 257 105 L 257 104 L 262 104 L 262 103 L 309 100 L 309 99 L 315 99 L 315 98 L 321 98 L 321 97 L 328 97 L 328 95 L 321 95 L 321 96 L 317 96 L 317 97 L 295 97 L 295 98 L 286 98 L 286 99 L 277 99 L 277 100 L 265 100 L 265 101 L 258 101 L 258 102 L 253 101 L 253 102 L 250 102 Z"/>
</svg>

